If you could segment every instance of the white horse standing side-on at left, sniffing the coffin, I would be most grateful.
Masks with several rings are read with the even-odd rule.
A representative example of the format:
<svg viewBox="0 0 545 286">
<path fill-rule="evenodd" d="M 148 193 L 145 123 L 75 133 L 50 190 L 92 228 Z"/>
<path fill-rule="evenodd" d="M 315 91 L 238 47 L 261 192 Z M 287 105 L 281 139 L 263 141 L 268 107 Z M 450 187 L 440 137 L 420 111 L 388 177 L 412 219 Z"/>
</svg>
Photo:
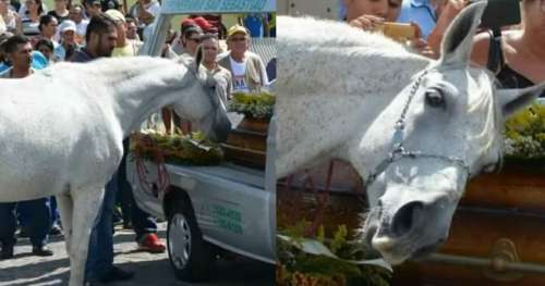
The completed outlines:
<svg viewBox="0 0 545 286">
<path fill-rule="evenodd" d="M 214 79 L 157 58 L 59 63 L 24 79 L 0 80 L 0 201 L 55 195 L 61 211 L 70 285 L 83 285 L 89 235 L 122 140 L 160 107 L 230 129 Z"/>
</svg>

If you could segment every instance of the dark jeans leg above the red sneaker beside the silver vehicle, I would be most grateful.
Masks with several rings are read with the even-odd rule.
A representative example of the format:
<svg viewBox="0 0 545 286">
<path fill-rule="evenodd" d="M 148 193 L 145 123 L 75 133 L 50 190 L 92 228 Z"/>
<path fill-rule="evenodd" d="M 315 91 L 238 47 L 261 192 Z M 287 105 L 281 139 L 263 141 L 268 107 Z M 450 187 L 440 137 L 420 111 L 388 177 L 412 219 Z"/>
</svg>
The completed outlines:
<svg viewBox="0 0 545 286">
<path fill-rule="evenodd" d="M 131 184 L 126 179 L 126 153 L 129 150 L 129 139 L 123 141 L 123 159 L 119 165 L 119 190 L 123 196 L 123 200 L 130 203 L 131 222 L 133 223 L 134 233 L 136 233 L 136 241 L 140 241 L 146 234 L 157 233 L 157 224 L 155 217 L 149 213 L 144 212 L 136 201 L 134 201 Z"/>
</svg>

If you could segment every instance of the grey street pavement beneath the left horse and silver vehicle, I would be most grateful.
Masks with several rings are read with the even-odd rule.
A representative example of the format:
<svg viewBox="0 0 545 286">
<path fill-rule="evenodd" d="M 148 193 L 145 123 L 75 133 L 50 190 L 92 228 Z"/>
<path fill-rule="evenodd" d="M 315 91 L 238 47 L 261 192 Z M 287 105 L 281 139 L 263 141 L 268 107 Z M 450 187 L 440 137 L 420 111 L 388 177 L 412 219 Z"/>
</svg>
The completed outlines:
<svg viewBox="0 0 545 286">
<path fill-rule="evenodd" d="M 166 223 L 159 224 L 159 236 L 166 237 Z M 62 236 L 51 237 L 48 247 L 53 257 L 31 256 L 27 238 L 21 238 L 15 247 L 15 258 L 0 260 L 0 286 L 46 286 L 68 285 L 69 260 Z M 111 283 L 111 286 L 267 286 L 275 285 L 275 266 L 247 258 L 234 256 L 217 263 L 216 272 L 210 273 L 206 283 L 182 283 L 171 270 L 168 254 L 152 254 L 137 250 L 134 232 L 117 229 L 114 235 L 114 264 L 135 272 L 135 277 L 124 283 Z"/>
</svg>

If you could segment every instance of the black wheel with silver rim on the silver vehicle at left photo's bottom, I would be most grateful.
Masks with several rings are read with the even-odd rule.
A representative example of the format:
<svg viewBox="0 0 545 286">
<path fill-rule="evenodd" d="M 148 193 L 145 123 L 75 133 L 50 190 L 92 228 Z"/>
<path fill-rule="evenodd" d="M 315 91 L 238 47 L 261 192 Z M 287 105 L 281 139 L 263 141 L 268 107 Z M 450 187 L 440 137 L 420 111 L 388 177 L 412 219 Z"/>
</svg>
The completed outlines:
<svg viewBox="0 0 545 286">
<path fill-rule="evenodd" d="M 170 264 L 181 281 L 204 281 L 214 265 L 211 246 L 203 239 L 191 206 L 185 200 L 172 206 L 167 227 Z"/>
</svg>

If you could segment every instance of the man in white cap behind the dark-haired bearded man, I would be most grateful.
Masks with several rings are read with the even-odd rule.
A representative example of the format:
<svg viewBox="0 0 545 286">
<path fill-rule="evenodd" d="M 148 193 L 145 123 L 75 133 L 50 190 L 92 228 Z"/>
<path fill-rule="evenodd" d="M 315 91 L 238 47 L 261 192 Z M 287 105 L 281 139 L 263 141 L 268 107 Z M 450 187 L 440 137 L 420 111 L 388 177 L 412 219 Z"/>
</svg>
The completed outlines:
<svg viewBox="0 0 545 286">
<path fill-rule="evenodd" d="M 131 40 L 126 38 L 126 20 L 123 14 L 114 9 L 106 11 L 106 14 L 116 22 L 116 29 L 118 30 L 118 41 L 111 57 L 135 57 L 142 47 L 142 41 Z"/>
</svg>

